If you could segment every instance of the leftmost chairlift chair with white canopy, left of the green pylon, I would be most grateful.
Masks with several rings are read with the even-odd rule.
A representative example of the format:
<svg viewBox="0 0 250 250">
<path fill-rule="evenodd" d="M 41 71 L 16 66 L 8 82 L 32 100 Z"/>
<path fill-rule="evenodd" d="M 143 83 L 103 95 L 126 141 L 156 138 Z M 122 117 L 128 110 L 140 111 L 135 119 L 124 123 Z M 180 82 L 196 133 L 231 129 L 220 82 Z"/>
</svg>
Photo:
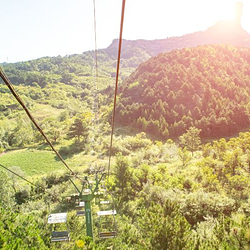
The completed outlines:
<svg viewBox="0 0 250 250">
<path fill-rule="evenodd" d="M 51 242 L 61 242 L 70 240 L 69 231 L 67 227 L 67 213 L 50 214 L 48 217 L 48 223 L 54 225 L 54 230 L 51 234 Z M 56 225 L 61 223 L 64 224 L 64 228 L 66 228 L 66 230 L 55 230 Z"/>
</svg>

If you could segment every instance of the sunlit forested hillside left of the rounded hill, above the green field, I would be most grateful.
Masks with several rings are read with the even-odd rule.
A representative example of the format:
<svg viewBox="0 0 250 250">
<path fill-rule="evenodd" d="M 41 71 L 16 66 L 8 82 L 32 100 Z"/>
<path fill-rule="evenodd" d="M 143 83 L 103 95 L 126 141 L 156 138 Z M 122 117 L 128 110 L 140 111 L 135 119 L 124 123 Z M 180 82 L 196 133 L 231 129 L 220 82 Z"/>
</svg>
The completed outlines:
<svg viewBox="0 0 250 250">
<path fill-rule="evenodd" d="M 123 60 L 121 79 L 135 69 L 137 60 L 145 59 L 141 54 L 136 54 L 132 53 Z M 2 66 L 39 124 L 51 140 L 57 142 L 69 132 L 79 116 L 89 117 L 86 118 L 85 127 L 91 125 L 97 95 L 101 116 L 109 116 L 116 58 L 100 50 L 98 63 L 98 79 L 94 77 L 94 51 Z M 39 143 L 42 138 L 30 125 L 26 114 L 1 81 L 0 86 L 0 151 Z"/>
</svg>

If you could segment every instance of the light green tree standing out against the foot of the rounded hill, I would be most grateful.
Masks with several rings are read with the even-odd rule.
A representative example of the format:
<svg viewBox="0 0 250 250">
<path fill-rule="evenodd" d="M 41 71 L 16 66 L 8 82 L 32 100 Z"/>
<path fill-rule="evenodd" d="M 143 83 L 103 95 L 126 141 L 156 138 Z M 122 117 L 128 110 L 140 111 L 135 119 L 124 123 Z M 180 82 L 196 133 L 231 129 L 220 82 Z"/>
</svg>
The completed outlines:
<svg viewBox="0 0 250 250">
<path fill-rule="evenodd" d="M 186 133 L 179 137 L 180 145 L 190 150 L 192 155 L 201 145 L 200 132 L 201 129 L 190 127 Z"/>
</svg>

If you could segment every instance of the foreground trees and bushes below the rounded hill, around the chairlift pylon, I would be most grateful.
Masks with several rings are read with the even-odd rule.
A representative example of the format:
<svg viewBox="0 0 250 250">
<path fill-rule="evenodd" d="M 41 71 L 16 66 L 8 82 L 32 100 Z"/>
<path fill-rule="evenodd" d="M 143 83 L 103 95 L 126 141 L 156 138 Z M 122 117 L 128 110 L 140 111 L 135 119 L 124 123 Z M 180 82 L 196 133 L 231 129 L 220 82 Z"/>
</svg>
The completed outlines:
<svg viewBox="0 0 250 250">
<path fill-rule="evenodd" d="M 109 189 L 119 231 L 112 240 L 97 237 L 94 203 L 95 242 L 85 236 L 85 220 L 76 216 L 76 207 L 67 199 L 75 190 L 66 172 L 33 178 L 36 187 L 31 187 L 1 170 L 0 248 L 248 249 L 249 138 L 249 133 L 241 133 L 191 154 L 171 140 L 153 142 L 145 133 L 115 137 L 120 153 Z M 18 167 L 11 169 L 29 178 Z M 94 178 L 86 170 L 77 172 Z M 66 211 L 71 241 L 50 243 L 48 214 Z"/>
</svg>

